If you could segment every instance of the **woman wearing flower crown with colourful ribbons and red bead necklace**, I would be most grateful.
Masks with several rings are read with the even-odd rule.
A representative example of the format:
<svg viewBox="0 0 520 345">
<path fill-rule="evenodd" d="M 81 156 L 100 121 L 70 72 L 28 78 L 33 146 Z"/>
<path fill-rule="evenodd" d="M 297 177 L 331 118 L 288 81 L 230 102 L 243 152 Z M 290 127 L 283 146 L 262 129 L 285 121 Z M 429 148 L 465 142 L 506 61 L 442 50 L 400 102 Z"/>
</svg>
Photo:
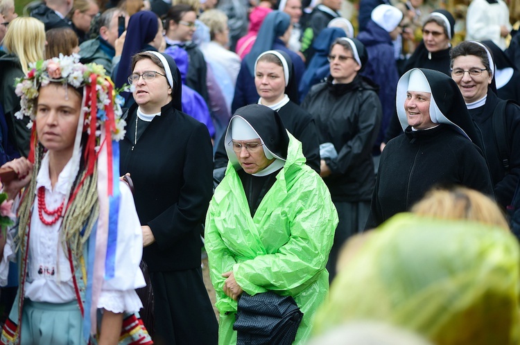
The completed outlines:
<svg viewBox="0 0 520 345">
<path fill-rule="evenodd" d="M 17 226 L 4 234 L 0 283 L 17 257 L 19 289 L 0 344 L 152 344 L 135 314 L 142 232 L 119 182 L 125 122 L 110 78 L 60 55 L 17 82 L 17 117 L 33 126 L 28 159 L 3 166 L 17 175 L 3 181 Z"/>
</svg>

